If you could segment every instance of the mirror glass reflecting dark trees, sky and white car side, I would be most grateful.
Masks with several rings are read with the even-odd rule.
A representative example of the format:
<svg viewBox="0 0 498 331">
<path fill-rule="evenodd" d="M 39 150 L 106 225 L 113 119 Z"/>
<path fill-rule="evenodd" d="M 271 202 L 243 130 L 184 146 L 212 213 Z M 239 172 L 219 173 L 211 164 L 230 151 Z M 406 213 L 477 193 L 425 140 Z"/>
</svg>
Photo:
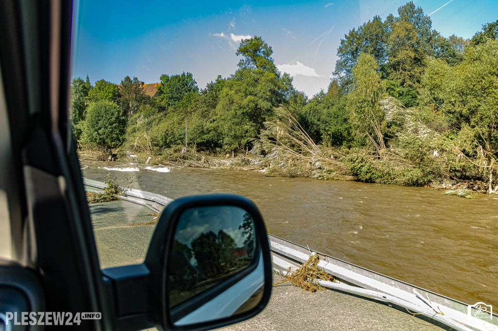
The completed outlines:
<svg viewBox="0 0 498 331">
<path fill-rule="evenodd" d="M 232 316 L 255 307 L 264 271 L 254 221 L 236 206 L 195 207 L 180 216 L 167 260 L 175 325 Z M 251 266 L 251 268 L 249 268 Z"/>
</svg>

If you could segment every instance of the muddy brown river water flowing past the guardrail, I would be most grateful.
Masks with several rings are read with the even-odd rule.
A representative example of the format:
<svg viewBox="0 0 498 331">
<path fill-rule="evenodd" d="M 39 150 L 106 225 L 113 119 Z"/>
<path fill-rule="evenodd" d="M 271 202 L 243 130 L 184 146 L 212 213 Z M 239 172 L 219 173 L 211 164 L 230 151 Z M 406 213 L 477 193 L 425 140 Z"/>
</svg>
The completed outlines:
<svg viewBox="0 0 498 331">
<path fill-rule="evenodd" d="M 106 169 L 107 167 L 107 169 Z M 261 172 L 83 162 L 85 177 L 178 198 L 242 194 L 267 232 L 468 304 L 498 307 L 498 199 Z M 133 170 L 133 171 L 123 171 Z M 169 172 L 168 172 L 169 170 Z"/>
</svg>

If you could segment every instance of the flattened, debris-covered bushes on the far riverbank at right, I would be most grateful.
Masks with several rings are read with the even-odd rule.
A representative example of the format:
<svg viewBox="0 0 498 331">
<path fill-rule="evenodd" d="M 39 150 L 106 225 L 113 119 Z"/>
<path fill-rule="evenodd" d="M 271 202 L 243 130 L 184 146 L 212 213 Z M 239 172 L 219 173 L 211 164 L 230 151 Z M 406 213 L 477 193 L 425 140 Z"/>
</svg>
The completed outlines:
<svg viewBox="0 0 498 331">
<path fill-rule="evenodd" d="M 271 174 L 498 192 L 495 163 L 487 163 L 481 147 L 477 147 L 477 157 L 466 157 L 439 133 L 443 124 L 426 109 L 407 109 L 393 98 L 386 101 L 381 109 L 388 123 L 410 129 L 393 134 L 389 147 L 375 145 L 373 138 L 370 147 L 317 145 L 299 121 L 280 107 L 278 118 L 264 123 L 251 153 L 260 157 L 258 163 Z"/>
</svg>

